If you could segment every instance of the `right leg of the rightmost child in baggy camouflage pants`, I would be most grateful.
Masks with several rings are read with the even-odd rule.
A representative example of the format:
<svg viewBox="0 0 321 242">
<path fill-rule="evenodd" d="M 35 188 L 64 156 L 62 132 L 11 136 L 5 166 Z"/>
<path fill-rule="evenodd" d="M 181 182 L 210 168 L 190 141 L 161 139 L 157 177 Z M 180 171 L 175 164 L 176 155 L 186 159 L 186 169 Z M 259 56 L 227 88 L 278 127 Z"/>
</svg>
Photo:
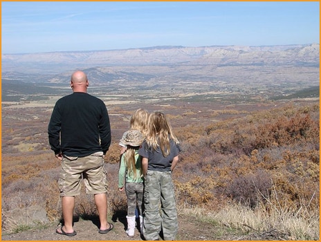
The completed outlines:
<svg viewBox="0 0 321 242">
<path fill-rule="evenodd" d="M 174 194 L 174 184 L 170 171 L 162 172 L 160 179 L 162 218 L 163 218 L 163 235 L 165 241 L 172 241 L 178 232 L 178 220 L 176 211 L 176 201 Z"/>
</svg>

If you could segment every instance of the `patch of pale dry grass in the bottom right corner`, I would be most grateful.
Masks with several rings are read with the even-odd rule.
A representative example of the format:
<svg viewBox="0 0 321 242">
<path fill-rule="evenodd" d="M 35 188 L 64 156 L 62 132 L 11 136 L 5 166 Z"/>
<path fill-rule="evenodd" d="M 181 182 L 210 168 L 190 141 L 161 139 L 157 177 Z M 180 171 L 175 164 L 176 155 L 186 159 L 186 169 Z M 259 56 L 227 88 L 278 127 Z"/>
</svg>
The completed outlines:
<svg viewBox="0 0 321 242">
<path fill-rule="evenodd" d="M 318 204 L 318 198 L 313 196 L 310 201 L 304 201 L 297 210 L 281 207 L 275 195 L 268 198 L 268 204 L 262 202 L 262 197 L 258 199 L 261 202 L 254 209 L 231 201 L 219 210 L 209 211 L 206 207 L 195 206 L 180 207 L 179 212 L 259 239 L 269 235 L 277 240 L 319 241 L 319 207 L 310 208 L 311 202 Z"/>
</svg>

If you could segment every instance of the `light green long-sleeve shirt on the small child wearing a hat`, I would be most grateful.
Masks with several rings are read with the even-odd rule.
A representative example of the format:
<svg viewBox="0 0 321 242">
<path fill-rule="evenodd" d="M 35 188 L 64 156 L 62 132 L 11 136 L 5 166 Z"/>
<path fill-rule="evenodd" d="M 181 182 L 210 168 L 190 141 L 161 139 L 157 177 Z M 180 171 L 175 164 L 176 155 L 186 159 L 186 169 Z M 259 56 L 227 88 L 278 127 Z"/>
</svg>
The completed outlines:
<svg viewBox="0 0 321 242">
<path fill-rule="evenodd" d="M 140 170 L 142 167 L 142 157 L 138 154 L 138 150 L 135 151 L 135 168 L 136 168 L 136 176 L 134 177 L 134 173 L 129 173 L 126 167 L 125 156 L 122 154 L 122 159 L 120 160 L 120 167 L 118 171 L 118 187 L 122 188 L 126 183 L 143 183 L 144 178 L 140 176 Z"/>
</svg>

